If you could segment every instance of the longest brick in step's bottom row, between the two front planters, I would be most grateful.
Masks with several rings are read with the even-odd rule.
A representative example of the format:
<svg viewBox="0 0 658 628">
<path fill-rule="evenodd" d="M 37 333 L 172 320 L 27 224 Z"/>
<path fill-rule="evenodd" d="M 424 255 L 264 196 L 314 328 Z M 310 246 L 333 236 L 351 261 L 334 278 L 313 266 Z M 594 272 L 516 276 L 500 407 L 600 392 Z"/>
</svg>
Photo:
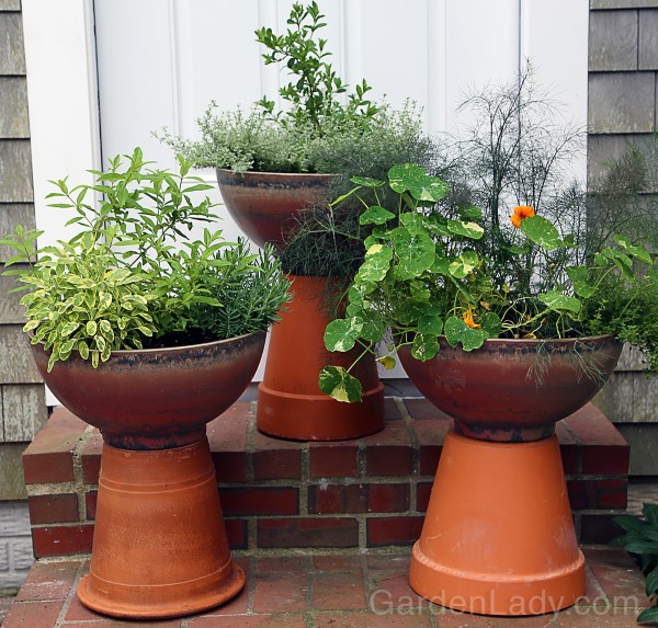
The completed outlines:
<svg viewBox="0 0 658 628">
<path fill-rule="evenodd" d="M 263 518 L 257 525 L 261 548 L 359 546 L 353 517 Z"/>
</svg>

